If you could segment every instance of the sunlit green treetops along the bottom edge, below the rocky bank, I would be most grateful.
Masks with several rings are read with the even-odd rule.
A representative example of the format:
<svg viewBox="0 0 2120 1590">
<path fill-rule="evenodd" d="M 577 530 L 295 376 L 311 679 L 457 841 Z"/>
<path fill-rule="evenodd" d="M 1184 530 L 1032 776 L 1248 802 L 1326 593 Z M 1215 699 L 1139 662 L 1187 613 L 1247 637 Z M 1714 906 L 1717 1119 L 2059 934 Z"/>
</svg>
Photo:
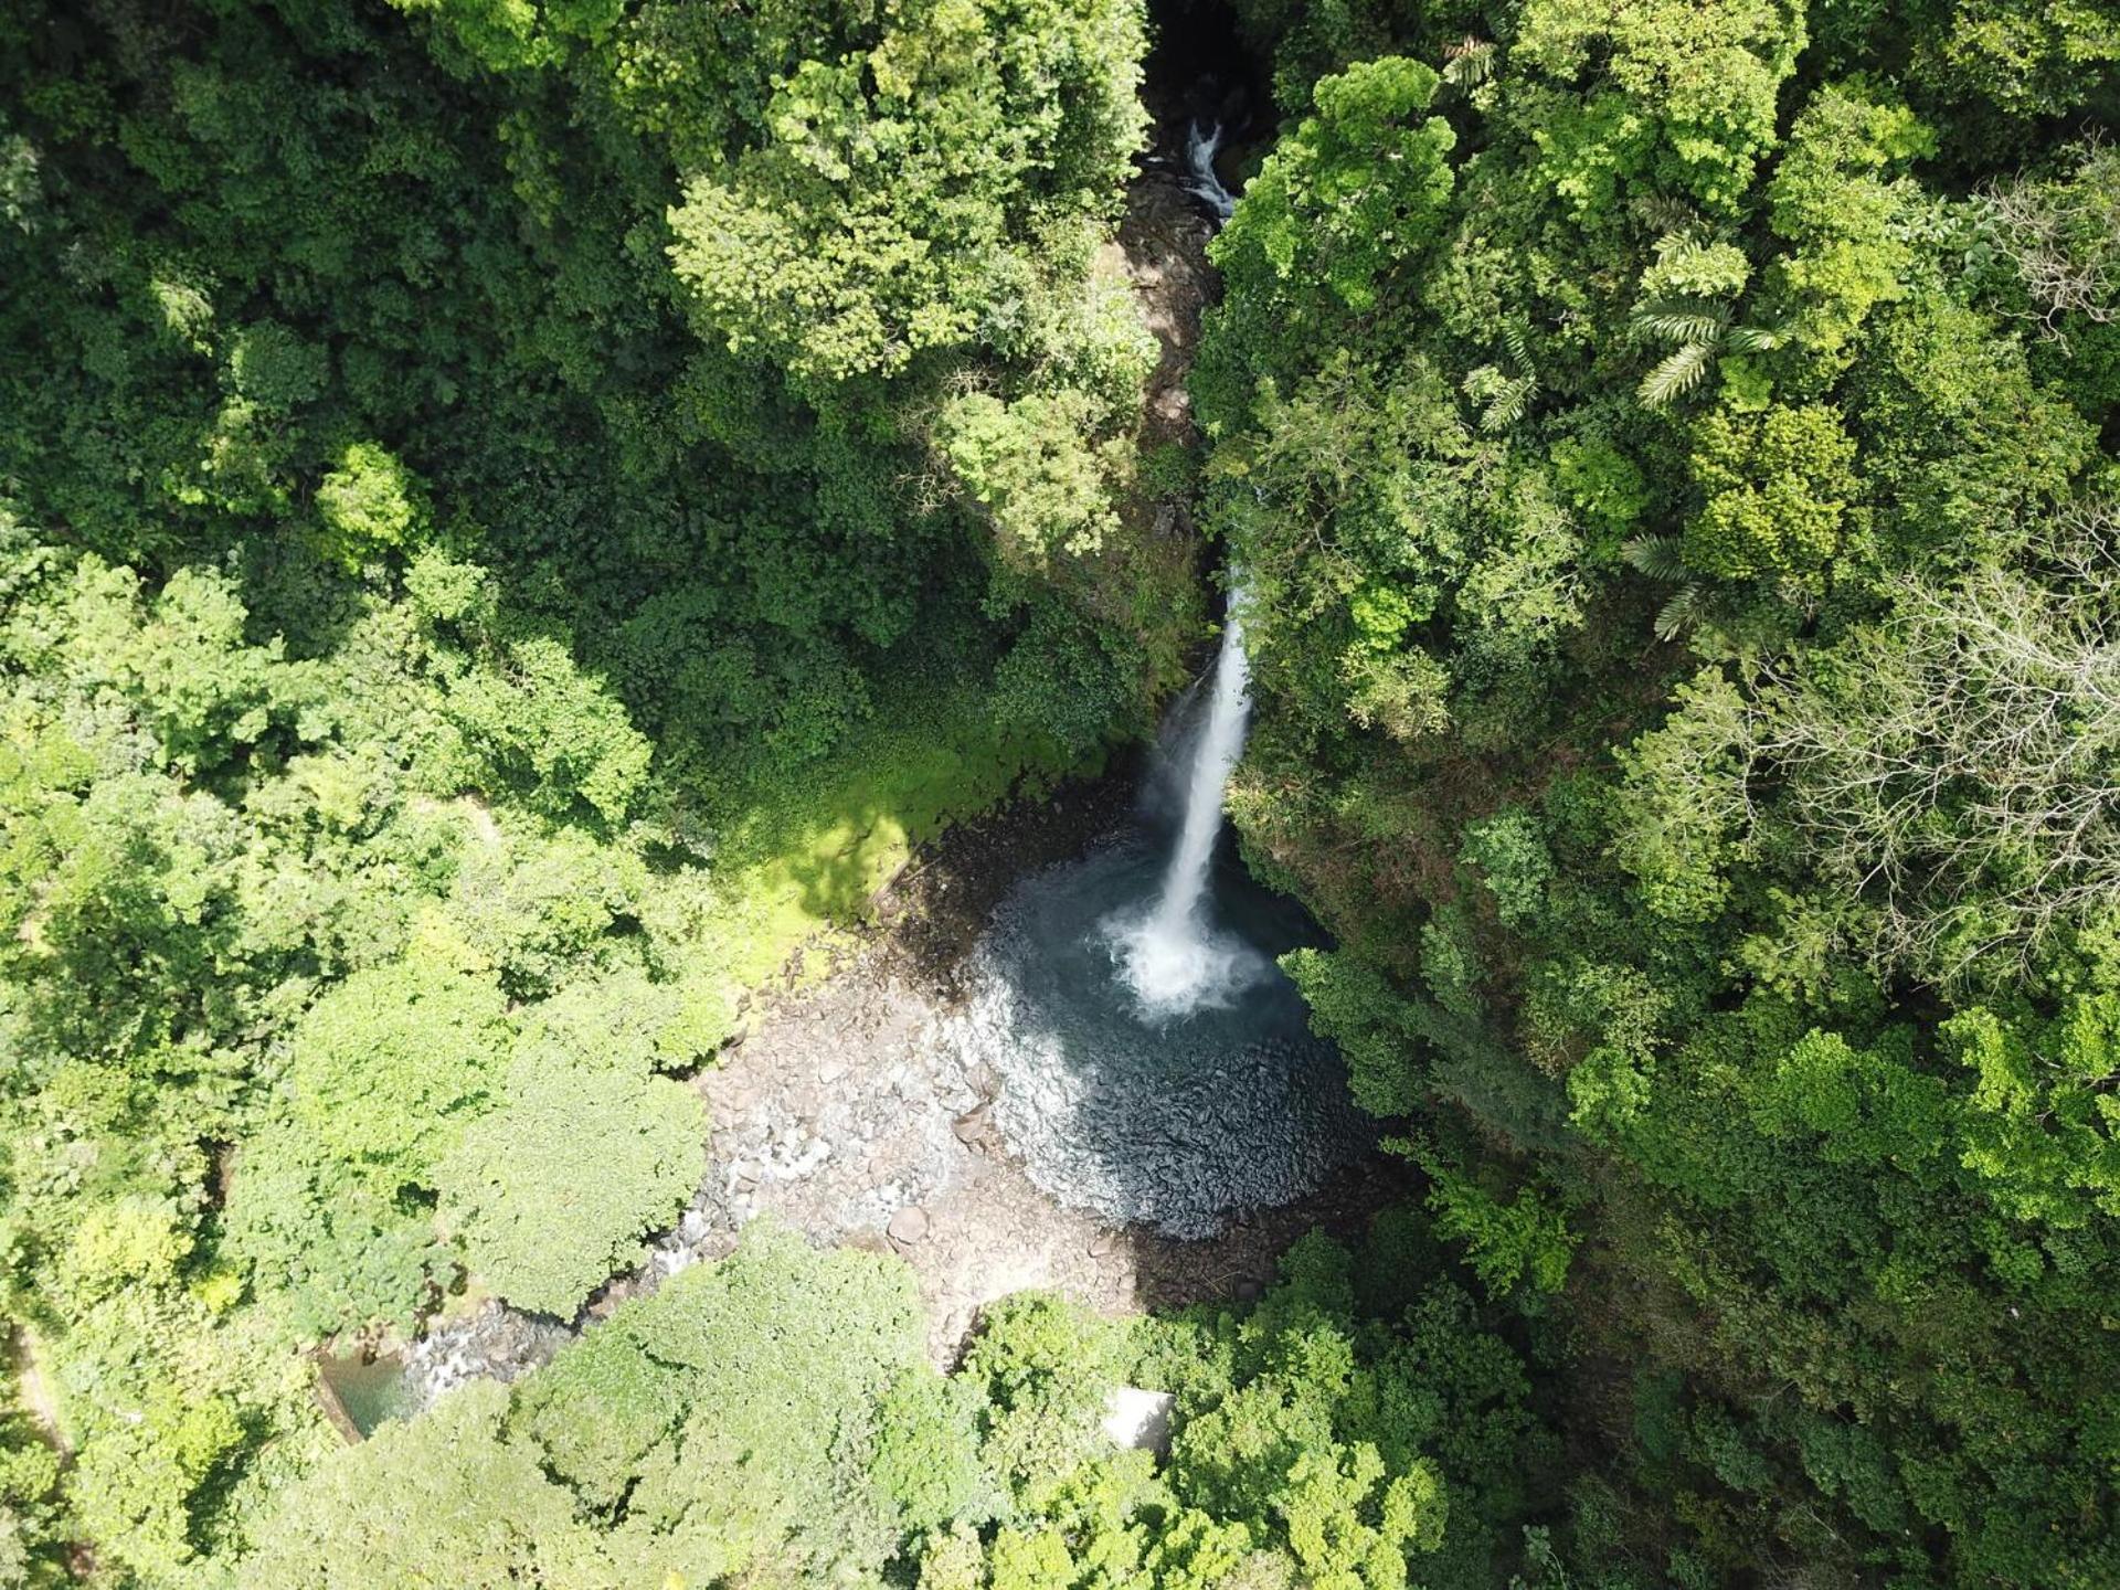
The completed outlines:
<svg viewBox="0 0 2120 1590">
<path fill-rule="evenodd" d="M 1058 1297 L 988 1310 L 954 1376 L 912 1272 L 755 1230 L 515 1386 L 473 1384 L 282 1495 L 244 1584 L 1406 1586 L 1495 1582 L 1552 1461 L 1516 1350 L 1418 1219 L 1308 1238 L 1249 1317 L 1126 1329 Z M 1100 1433 L 1128 1376 L 1172 1450 Z"/>
</svg>

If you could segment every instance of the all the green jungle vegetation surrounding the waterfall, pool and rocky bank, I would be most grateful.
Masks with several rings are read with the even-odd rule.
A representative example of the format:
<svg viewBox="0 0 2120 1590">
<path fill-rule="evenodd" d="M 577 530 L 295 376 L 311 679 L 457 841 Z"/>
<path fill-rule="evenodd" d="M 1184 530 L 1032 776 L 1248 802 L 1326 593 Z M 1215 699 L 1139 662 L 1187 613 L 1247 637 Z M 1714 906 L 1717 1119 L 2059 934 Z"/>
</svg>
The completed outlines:
<svg viewBox="0 0 2120 1590">
<path fill-rule="evenodd" d="M 2120 1584 L 2120 11 L 1238 0 L 1181 449 L 1155 21 L 0 8 L 0 1586 Z M 1211 562 L 1416 1206 L 952 1374 L 763 1230 L 346 1446 Z"/>
</svg>

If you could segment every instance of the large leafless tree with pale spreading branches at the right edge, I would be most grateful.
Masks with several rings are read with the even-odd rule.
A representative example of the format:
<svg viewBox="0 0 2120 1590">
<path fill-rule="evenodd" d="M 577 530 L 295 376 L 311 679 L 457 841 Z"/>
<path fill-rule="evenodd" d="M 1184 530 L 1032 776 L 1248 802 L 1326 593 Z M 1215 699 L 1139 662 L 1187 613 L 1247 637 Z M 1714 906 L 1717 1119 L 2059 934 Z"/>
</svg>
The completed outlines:
<svg viewBox="0 0 2120 1590">
<path fill-rule="evenodd" d="M 1880 905 L 1878 960 L 1948 982 L 2120 912 L 2116 532 L 2090 507 L 2035 572 L 1908 579 L 1885 628 L 1753 695 L 1751 780 Z"/>
</svg>

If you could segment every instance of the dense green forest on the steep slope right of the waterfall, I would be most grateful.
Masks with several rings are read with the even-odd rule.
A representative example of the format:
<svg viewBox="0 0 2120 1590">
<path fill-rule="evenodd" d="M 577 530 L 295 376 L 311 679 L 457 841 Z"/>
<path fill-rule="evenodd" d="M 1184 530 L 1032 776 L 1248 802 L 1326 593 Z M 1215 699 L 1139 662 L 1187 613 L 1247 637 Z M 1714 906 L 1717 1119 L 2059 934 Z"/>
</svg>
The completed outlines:
<svg viewBox="0 0 2120 1590">
<path fill-rule="evenodd" d="M 1545 1582 L 2114 1584 L 2120 23 L 1244 15 L 1238 814 L 1569 1342 Z"/>
</svg>

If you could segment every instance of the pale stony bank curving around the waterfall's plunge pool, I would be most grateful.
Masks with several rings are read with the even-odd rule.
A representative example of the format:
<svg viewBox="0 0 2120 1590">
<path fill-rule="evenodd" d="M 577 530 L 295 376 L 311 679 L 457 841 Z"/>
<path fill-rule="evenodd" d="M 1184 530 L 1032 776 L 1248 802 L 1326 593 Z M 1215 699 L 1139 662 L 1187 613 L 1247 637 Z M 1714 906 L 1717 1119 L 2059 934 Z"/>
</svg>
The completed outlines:
<svg viewBox="0 0 2120 1590">
<path fill-rule="evenodd" d="M 761 1217 L 814 1242 L 903 1257 L 920 1278 L 939 1363 L 962 1350 L 977 1310 L 1011 1291 L 1064 1291 L 1111 1314 L 1242 1300 L 1302 1232 L 1359 1227 L 1397 1187 L 1380 1162 L 1183 1240 L 1058 1204 L 1011 1153 L 1003 1077 L 960 1041 L 992 999 L 979 937 L 1026 869 L 1079 856 L 1126 820 L 1132 799 L 1134 780 L 1119 772 L 1020 801 L 916 856 L 878 899 L 867 941 L 820 984 L 757 1011 L 746 1037 L 700 1075 L 708 1170 L 649 1261 L 577 1321 L 485 1304 L 435 1327 L 405 1353 L 399 1406 L 536 1367 L 625 1297 L 729 1253 Z"/>
</svg>

